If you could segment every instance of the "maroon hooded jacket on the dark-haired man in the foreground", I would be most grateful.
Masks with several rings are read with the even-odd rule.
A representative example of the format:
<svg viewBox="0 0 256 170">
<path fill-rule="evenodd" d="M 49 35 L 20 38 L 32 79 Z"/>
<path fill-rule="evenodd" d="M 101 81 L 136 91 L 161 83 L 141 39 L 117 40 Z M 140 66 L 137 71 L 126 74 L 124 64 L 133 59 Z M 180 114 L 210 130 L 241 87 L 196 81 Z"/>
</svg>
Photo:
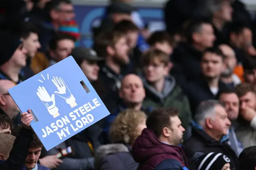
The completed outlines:
<svg viewBox="0 0 256 170">
<path fill-rule="evenodd" d="M 132 145 L 132 156 L 139 162 L 137 170 L 187 170 L 181 147 L 161 142 L 146 128 Z"/>
</svg>

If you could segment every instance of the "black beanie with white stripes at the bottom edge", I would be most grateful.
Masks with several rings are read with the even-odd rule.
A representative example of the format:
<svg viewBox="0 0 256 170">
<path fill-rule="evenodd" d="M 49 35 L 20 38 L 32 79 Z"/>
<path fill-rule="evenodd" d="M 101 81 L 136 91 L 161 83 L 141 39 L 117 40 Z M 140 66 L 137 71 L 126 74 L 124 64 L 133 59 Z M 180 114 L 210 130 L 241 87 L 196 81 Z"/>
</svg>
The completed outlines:
<svg viewBox="0 0 256 170">
<path fill-rule="evenodd" d="M 223 166 L 230 163 L 230 159 L 222 153 L 196 153 L 193 156 L 197 170 L 221 170 Z"/>
</svg>

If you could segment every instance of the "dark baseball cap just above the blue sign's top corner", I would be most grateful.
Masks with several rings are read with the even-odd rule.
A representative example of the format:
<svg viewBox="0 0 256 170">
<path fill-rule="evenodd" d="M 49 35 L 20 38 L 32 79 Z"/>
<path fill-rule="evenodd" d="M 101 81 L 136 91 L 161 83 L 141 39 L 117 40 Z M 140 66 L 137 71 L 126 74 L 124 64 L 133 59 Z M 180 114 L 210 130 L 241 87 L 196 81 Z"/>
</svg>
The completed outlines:
<svg viewBox="0 0 256 170">
<path fill-rule="evenodd" d="M 104 58 L 99 57 L 93 49 L 84 47 L 75 47 L 71 53 L 78 65 L 85 59 L 87 61 L 102 61 Z"/>
</svg>

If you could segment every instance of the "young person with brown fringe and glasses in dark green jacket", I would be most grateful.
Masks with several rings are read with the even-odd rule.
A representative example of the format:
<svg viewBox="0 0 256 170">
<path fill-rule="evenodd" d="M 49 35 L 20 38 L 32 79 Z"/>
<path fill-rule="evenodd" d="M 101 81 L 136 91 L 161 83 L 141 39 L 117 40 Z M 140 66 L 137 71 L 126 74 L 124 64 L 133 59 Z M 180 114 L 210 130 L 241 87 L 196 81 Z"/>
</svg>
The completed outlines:
<svg viewBox="0 0 256 170">
<path fill-rule="evenodd" d="M 152 48 L 143 55 L 144 83 L 146 98 L 144 107 L 174 107 L 179 110 L 179 118 L 186 129 L 192 120 L 188 98 L 169 75 L 170 57 L 160 49 Z M 183 135 L 186 138 L 186 134 Z"/>
</svg>

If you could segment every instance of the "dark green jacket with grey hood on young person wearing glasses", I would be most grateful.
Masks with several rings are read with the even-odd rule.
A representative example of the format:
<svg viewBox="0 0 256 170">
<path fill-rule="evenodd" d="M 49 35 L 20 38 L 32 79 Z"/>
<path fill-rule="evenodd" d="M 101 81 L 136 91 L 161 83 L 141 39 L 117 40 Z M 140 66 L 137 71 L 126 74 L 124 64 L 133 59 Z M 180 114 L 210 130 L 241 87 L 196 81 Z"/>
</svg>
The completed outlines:
<svg viewBox="0 0 256 170">
<path fill-rule="evenodd" d="M 143 79 L 143 78 L 142 78 Z M 166 77 L 164 90 L 162 93 L 157 92 L 143 79 L 146 98 L 143 101 L 143 107 L 174 107 L 179 110 L 179 118 L 182 126 L 187 129 L 192 121 L 192 113 L 186 95 L 182 93 L 182 89 L 176 85 L 174 77 Z M 186 132 L 183 135 L 186 138 Z"/>
</svg>

